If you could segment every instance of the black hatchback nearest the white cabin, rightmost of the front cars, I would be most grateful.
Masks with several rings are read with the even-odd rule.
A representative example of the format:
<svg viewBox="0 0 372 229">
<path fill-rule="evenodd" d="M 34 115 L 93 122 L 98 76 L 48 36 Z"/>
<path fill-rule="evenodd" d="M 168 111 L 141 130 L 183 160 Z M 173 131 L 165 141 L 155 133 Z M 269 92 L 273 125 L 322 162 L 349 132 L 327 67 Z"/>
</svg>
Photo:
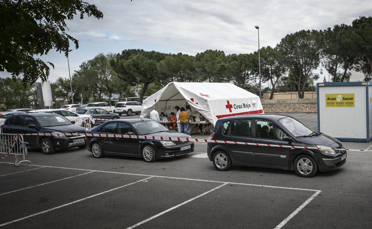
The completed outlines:
<svg viewBox="0 0 372 229">
<path fill-rule="evenodd" d="M 209 160 L 217 170 L 231 164 L 295 170 L 300 177 L 343 166 L 346 150 L 340 141 L 311 130 L 286 115 L 245 115 L 219 119 L 212 140 L 272 145 L 315 147 L 315 149 L 269 147 L 246 144 L 208 143 Z"/>
</svg>

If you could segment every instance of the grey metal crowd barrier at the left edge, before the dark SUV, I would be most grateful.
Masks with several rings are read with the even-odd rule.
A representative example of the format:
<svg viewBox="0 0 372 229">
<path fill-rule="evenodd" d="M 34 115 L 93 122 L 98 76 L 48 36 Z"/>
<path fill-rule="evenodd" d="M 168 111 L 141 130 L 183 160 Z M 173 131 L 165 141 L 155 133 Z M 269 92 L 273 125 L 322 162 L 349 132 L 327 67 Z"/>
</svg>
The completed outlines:
<svg viewBox="0 0 372 229">
<path fill-rule="evenodd" d="M 1 134 L 0 133 L 0 159 L 6 158 L 9 154 L 14 154 L 15 166 L 19 166 L 21 162 L 28 162 L 31 164 L 31 161 L 26 160 L 27 155 L 26 143 L 23 141 L 23 136 L 20 134 Z M 18 156 L 21 155 L 21 161 L 18 161 Z"/>
</svg>

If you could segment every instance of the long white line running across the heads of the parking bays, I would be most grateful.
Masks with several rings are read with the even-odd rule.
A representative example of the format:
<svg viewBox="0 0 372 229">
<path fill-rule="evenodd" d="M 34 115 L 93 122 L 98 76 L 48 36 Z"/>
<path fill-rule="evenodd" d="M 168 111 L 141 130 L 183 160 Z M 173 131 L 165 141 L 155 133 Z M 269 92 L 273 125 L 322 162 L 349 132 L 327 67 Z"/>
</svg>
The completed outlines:
<svg viewBox="0 0 372 229">
<path fill-rule="evenodd" d="M 11 162 L 0 162 L 0 163 L 14 164 L 14 163 L 11 163 Z M 41 166 L 41 165 L 35 165 L 35 164 L 24 164 L 24 165 L 27 165 L 27 166 Z M 183 178 L 183 177 L 167 177 L 167 176 L 156 176 L 156 175 L 148 175 L 148 174 L 121 173 L 121 172 L 90 170 L 90 169 L 75 169 L 75 168 L 58 167 L 58 166 L 45 166 L 45 167 L 55 168 L 55 169 L 71 169 L 71 170 L 93 171 L 93 172 L 101 172 L 101 173 L 125 174 L 125 175 L 134 175 L 134 176 L 161 177 L 161 178 L 179 179 L 179 180 L 193 180 L 193 181 L 205 181 L 205 182 L 214 182 L 214 183 L 242 184 L 242 185 L 248 185 L 248 186 L 268 187 L 268 188 L 276 188 L 276 189 L 291 189 L 291 190 L 302 190 L 302 191 L 312 191 L 312 192 L 319 191 L 319 190 L 315 190 L 315 189 L 301 189 L 301 188 L 292 188 L 292 187 L 270 186 L 270 185 L 263 185 L 263 184 L 234 183 L 234 182 L 217 181 L 217 180 L 202 180 L 202 179 Z"/>
</svg>

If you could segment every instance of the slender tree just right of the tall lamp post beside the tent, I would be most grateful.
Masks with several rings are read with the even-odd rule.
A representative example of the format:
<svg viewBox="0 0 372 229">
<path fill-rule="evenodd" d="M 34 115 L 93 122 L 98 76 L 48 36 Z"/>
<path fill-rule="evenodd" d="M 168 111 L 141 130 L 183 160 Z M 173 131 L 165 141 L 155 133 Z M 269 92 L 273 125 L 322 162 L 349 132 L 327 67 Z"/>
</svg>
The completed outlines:
<svg viewBox="0 0 372 229">
<path fill-rule="evenodd" d="M 272 87 L 269 99 L 273 99 L 276 84 L 288 71 L 285 56 L 278 48 L 271 48 L 270 46 L 261 48 L 260 56 L 261 75 L 263 79 L 270 81 Z"/>
</svg>

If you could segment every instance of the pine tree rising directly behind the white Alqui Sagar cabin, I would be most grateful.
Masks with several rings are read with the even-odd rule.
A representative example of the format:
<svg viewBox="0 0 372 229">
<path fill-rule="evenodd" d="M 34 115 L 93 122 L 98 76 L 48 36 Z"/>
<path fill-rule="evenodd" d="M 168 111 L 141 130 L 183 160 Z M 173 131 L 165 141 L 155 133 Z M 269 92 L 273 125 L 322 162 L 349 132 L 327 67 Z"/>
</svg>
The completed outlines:
<svg viewBox="0 0 372 229">
<path fill-rule="evenodd" d="M 352 27 L 346 24 L 336 24 L 333 29 L 321 31 L 323 37 L 321 53 L 324 56 L 322 65 L 332 76 L 333 82 L 343 82 L 347 78 L 347 71 L 355 64 L 356 44 L 352 34 Z M 339 67 L 344 70 L 341 77 L 338 77 Z"/>
</svg>

